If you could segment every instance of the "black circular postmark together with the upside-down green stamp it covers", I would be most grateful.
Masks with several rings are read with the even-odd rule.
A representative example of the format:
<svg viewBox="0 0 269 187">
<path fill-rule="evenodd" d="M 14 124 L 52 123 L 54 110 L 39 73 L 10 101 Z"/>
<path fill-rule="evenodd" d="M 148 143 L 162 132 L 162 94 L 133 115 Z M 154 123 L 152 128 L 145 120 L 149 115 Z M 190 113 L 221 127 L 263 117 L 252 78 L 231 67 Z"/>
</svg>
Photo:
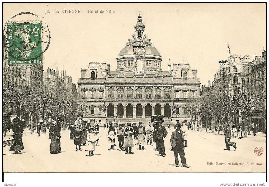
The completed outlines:
<svg viewBox="0 0 269 187">
<path fill-rule="evenodd" d="M 9 65 L 42 64 L 51 35 L 43 19 L 31 12 L 12 16 L 3 29 L 3 45 Z"/>
</svg>

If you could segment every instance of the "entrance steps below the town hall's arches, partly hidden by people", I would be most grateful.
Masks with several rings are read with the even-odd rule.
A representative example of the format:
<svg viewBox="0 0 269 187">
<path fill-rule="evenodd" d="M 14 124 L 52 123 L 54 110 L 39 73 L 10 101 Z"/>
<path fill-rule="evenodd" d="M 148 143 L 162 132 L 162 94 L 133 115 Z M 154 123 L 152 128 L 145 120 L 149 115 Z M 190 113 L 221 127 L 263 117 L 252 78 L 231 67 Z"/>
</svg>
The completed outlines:
<svg viewBox="0 0 269 187">
<path fill-rule="evenodd" d="M 107 117 L 107 123 L 109 122 L 113 122 L 114 123 L 114 119 L 113 117 Z M 122 117 L 117 117 L 116 123 L 125 123 L 125 127 L 127 127 L 127 123 L 136 123 L 137 126 L 139 124 L 139 122 L 143 123 L 143 126 L 146 127 L 148 125 L 148 122 L 151 121 L 151 117 L 147 116 L 146 118 L 142 118 L 142 117 L 136 117 L 136 118 L 122 118 Z M 162 125 L 165 127 L 168 127 L 168 125 L 171 125 L 171 118 L 168 119 L 168 117 L 164 117 L 164 122 L 162 122 Z M 171 125 L 172 128 L 172 125 Z"/>
</svg>

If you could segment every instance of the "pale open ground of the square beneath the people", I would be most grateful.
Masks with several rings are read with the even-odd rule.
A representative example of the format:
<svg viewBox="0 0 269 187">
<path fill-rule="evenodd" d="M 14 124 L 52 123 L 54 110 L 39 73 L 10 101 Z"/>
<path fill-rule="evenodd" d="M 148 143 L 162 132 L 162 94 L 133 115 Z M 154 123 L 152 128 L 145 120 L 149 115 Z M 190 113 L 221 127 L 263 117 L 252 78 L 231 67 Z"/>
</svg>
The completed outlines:
<svg viewBox="0 0 269 187">
<path fill-rule="evenodd" d="M 157 156 L 153 146 L 146 145 L 146 151 L 139 151 L 138 146 L 133 148 L 133 154 L 124 154 L 119 151 L 118 141 L 116 149 L 110 148 L 107 141 L 107 131 L 100 129 L 101 138 L 95 147 L 95 156 L 88 157 L 86 151 L 75 151 L 74 141 L 69 139 L 69 131 L 61 131 L 61 148 L 59 154 L 50 154 L 50 140 L 48 133 L 30 134 L 25 129 L 23 135 L 24 149 L 20 154 L 9 152 L 10 146 L 3 147 L 4 172 L 266 172 L 266 137 L 231 139 L 236 142 L 237 151 L 225 151 L 224 135 L 188 131 L 188 147 L 185 148 L 187 164 L 190 168 L 175 167 L 174 152 L 170 152 L 170 137 L 174 129 L 168 130 L 165 138 L 166 157 Z M 35 131 L 36 132 L 36 131 Z M 12 133 L 8 132 L 6 138 Z M 6 139 L 5 138 L 5 139 Z M 134 144 L 137 141 L 134 141 Z M 263 155 L 256 156 L 254 149 L 262 147 Z M 81 146 L 82 149 L 83 146 Z M 180 162 L 180 160 L 179 160 Z M 214 165 L 210 165 L 210 163 Z M 262 165 L 247 165 L 247 163 Z M 218 165 L 217 163 L 231 164 Z M 245 165 L 234 165 L 245 164 Z"/>
</svg>

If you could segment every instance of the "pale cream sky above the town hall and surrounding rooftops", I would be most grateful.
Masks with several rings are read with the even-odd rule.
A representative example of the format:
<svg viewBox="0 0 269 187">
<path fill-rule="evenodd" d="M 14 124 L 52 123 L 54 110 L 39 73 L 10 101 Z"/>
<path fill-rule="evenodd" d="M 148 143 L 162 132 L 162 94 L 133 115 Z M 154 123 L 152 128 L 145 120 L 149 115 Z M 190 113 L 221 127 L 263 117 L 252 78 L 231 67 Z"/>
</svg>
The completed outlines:
<svg viewBox="0 0 269 187">
<path fill-rule="evenodd" d="M 69 9 L 82 13 L 56 13 Z M 169 58 L 171 64 L 190 63 L 201 85 L 212 82 L 218 60 L 229 57 L 227 43 L 239 56 L 266 50 L 266 3 L 141 3 L 140 9 L 162 69 L 168 71 Z M 118 53 L 134 34 L 139 3 L 4 3 L 3 24 L 20 12 L 37 14 L 49 26 L 44 71 L 58 67 L 77 83 L 89 62 L 111 64 L 115 71 Z"/>
</svg>

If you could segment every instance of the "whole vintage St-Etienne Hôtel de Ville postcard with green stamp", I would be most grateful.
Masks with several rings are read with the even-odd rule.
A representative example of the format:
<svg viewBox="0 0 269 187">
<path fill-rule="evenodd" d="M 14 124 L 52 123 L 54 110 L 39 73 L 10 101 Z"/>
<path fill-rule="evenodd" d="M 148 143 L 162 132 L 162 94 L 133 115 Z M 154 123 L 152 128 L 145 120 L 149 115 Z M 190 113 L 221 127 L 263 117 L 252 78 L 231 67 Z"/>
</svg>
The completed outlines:
<svg viewBox="0 0 269 187">
<path fill-rule="evenodd" d="M 3 172 L 266 172 L 266 3 L 3 3 Z"/>
</svg>

